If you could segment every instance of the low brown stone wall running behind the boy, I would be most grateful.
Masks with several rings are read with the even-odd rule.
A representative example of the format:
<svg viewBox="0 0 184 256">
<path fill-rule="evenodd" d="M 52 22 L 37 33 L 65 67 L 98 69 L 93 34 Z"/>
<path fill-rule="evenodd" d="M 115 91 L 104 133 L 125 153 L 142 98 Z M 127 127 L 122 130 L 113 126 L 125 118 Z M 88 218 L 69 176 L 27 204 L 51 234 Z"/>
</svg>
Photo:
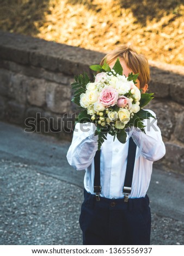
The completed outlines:
<svg viewBox="0 0 184 256">
<path fill-rule="evenodd" d="M 0 119 L 71 140 L 76 105 L 73 76 L 88 72 L 104 53 L 0 31 Z M 156 167 L 184 174 L 184 70 L 150 62 L 149 104 L 158 117 L 167 154 Z M 37 113 L 37 114 L 36 114 Z M 29 119 L 28 119 L 29 118 Z M 31 119 L 30 119 L 31 118 Z M 45 122 L 44 122 L 45 121 Z M 28 131 L 28 130 L 27 130 Z"/>
</svg>

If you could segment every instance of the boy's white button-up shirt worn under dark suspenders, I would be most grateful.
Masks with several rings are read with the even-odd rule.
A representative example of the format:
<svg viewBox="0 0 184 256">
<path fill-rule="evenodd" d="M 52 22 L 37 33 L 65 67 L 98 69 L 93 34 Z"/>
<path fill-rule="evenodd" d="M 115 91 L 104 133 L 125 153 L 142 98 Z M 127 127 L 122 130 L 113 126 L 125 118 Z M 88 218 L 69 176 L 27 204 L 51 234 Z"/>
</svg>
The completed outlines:
<svg viewBox="0 0 184 256">
<path fill-rule="evenodd" d="M 156 114 L 146 109 L 156 117 Z M 165 155 L 165 145 L 162 141 L 161 130 L 154 118 L 144 119 L 145 132 L 133 127 L 127 132 L 126 143 L 122 144 L 114 136 L 107 134 L 100 151 L 100 196 L 106 198 L 123 198 L 122 188 L 125 181 L 128 139 L 132 136 L 137 144 L 136 161 L 132 179 L 132 191 L 129 198 L 145 197 L 148 190 L 152 163 Z M 66 158 L 76 170 L 85 169 L 84 188 L 94 193 L 94 156 L 97 150 L 97 136 L 94 135 L 96 126 L 93 123 L 77 123 Z"/>
</svg>

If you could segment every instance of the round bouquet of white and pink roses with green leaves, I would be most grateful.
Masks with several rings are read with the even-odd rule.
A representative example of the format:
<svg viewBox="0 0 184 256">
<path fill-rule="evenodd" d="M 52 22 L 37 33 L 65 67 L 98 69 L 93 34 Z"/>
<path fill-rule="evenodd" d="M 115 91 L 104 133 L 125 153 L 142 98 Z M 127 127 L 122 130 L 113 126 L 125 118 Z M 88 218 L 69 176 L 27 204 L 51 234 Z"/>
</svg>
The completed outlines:
<svg viewBox="0 0 184 256">
<path fill-rule="evenodd" d="M 142 93 L 136 86 L 139 74 L 122 75 L 119 58 L 111 69 L 106 63 L 91 65 L 90 69 L 97 71 L 95 81 L 90 82 L 86 72 L 75 76 L 71 84 L 74 90 L 72 102 L 81 108 L 75 123 L 91 122 L 96 126 L 98 150 L 107 139 L 107 133 L 126 142 L 126 129 L 134 126 L 145 132 L 143 120 L 155 118 L 150 112 L 142 109 L 153 99 L 153 93 Z"/>
</svg>

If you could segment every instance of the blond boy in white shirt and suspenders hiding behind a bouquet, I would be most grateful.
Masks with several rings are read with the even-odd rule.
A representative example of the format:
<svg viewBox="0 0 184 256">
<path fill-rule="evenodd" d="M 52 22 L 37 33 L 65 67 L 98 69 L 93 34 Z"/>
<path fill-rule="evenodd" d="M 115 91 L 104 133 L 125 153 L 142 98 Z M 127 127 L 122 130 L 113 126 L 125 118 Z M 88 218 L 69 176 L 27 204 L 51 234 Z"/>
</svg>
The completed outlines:
<svg viewBox="0 0 184 256">
<path fill-rule="evenodd" d="M 142 54 L 121 46 L 108 53 L 101 65 L 105 58 L 111 68 L 119 58 L 125 76 L 139 73 L 136 86 L 146 92 L 150 72 Z M 161 131 L 153 120 L 144 120 L 146 134 L 135 127 L 127 131 L 125 144 L 117 138 L 113 142 L 113 136 L 107 134 L 99 159 L 95 124 L 76 124 L 66 157 L 77 170 L 85 169 L 84 202 L 79 217 L 83 245 L 150 245 L 151 213 L 146 191 L 152 163 L 165 155 Z M 99 178 L 95 178 L 98 169 Z M 100 183 L 99 193 L 94 189 L 94 179 Z M 127 179 L 131 180 L 130 186 L 125 184 Z"/>
</svg>

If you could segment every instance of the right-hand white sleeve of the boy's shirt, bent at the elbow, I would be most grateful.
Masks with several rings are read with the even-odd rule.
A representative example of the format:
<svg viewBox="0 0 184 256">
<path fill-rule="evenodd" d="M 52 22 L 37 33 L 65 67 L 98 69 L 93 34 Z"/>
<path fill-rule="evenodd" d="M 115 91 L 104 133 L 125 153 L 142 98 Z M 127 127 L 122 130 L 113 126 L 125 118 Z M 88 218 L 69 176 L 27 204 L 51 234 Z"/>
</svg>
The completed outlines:
<svg viewBox="0 0 184 256">
<path fill-rule="evenodd" d="M 156 114 L 146 109 L 156 117 Z M 157 119 L 144 119 L 145 133 L 133 127 L 132 138 L 139 148 L 139 154 L 149 161 L 160 160 L 165 155 L 165 145 L 162 140 L 161 130 L 157 126 Z"/>
</svg>

